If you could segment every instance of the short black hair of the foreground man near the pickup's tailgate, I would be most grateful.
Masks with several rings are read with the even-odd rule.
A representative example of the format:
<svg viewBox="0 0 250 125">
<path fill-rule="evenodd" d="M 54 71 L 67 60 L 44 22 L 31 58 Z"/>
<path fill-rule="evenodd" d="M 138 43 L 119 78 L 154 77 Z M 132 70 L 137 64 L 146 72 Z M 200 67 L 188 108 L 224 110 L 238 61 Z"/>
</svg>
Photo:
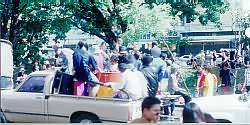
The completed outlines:
<svg viewBox="0 0 250 125">
<path fill-rule="evenodd" d="M 144 109 L 150 109 L 153 105 L 157 104 L 161 104 L 160 99 L 153 96 L 146 97 L 141 105 L 142 112 L 144 111 Z"/>
</svg>

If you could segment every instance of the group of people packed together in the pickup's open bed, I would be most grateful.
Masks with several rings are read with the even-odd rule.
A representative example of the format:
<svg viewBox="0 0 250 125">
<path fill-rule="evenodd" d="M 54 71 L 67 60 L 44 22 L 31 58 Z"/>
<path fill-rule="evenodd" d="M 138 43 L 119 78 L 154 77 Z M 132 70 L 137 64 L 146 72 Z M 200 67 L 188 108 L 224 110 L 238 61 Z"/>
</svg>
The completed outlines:
<svg viewBox="0 0 250 125">
<path fill-rule="evenodd" d="M 75 82 L 84 84 L 84 96 L 96 96 L 101 84 L 113 89 L 114 98 L 129 96 L 140 99 L 168 91 L 170 94 L 182 95 L 185 101 L 190 101 L 188 92 L 179 85 L 178 67 L 166 61 L 166 56 L 157 44 L 153 45 L 149 53 L 140 52 L 138 45 L 132 51 L 127 51 L 122 46 L 121 38 L 118 38 L 112 51 L 107 50 L 108 45 L 105 42 L 95 48 L 94 53 L 90 53 L 88 44 L 82 41 L 74 50 L 53 46 L 59 60 L 55 61 L 55 66 L 60 66 L 61 72 L 72 75 Z M 38 70 L 37 63 L 34 69 Z M 118 72 L 122 79 L 119 83 L 100 83 L 96 77 L 98 72 Z"/>
</svg>

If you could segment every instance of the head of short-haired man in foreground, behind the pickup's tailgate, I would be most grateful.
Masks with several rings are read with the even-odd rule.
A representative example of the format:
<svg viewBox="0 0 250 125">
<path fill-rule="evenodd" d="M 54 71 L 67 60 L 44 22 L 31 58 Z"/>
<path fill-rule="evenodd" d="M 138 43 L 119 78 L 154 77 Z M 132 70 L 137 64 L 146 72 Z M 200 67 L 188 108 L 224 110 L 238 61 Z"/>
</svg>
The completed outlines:
<svg viewBox="0 0 250 125">
<path fill-rule="evenodd" d="M 156 97 L 146 97 L 141 105 L 142 116 L 148 121 L 159 121 L 161 101 Z"/>
</svg>

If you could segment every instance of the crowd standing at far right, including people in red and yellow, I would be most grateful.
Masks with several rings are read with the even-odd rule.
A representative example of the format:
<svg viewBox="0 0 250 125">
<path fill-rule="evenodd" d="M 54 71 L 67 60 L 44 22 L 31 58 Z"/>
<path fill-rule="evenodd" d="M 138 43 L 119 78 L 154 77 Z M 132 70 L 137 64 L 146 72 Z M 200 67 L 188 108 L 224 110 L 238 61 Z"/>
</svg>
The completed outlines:
<svg viewBox="0 0 250 125">
<path fill-rule="evenodd" d="M 197 59 L 199 57 L 199 59 Z M 218 58 L 221 62 L 218 63 Z M 235 51 L 223 51 L 218 54 L 216 51 L 205 53 L 203 50 L 194 56 L 191 54 L 188 62 L 194 69 L 197 69 L 198 80 L 196 83 L 197 95 L 213 96 L 217 94 L 231 94 L 234 91 L 248 92 L 249 91 L 249 54 L 244 54 L 244 59 L 237 56 Z M 244 81 L 242 84 L 237 84 L 236 80 L 233 82 L 232 77 L 236 79 L 237 68 L 245 66 Z M 215 75 L 214 69 L 219 69 L 218 75 Z M 220 80 L 219 80 L 220 79 Z M 220 81 L 221 83 L 218 83 Z M 237 89 L 237 90 L 235 90 Z M 220 93 L 218 93 L 220 92 Z"/>
</svg>

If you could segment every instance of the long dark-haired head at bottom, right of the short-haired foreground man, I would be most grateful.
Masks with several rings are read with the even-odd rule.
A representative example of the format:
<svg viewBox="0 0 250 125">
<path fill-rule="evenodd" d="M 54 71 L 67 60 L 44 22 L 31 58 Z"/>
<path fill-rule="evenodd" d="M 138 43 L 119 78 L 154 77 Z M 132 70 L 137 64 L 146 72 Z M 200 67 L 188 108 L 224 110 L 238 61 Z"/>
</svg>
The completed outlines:
<svg viewBox="0 0 250 125">
<path fill-rule="evenodd" d="M 200 107 L 193 102 L 185 104 L 182 115 L 183 123 L 200 123 L 205 121 Z"/>
</svg>

